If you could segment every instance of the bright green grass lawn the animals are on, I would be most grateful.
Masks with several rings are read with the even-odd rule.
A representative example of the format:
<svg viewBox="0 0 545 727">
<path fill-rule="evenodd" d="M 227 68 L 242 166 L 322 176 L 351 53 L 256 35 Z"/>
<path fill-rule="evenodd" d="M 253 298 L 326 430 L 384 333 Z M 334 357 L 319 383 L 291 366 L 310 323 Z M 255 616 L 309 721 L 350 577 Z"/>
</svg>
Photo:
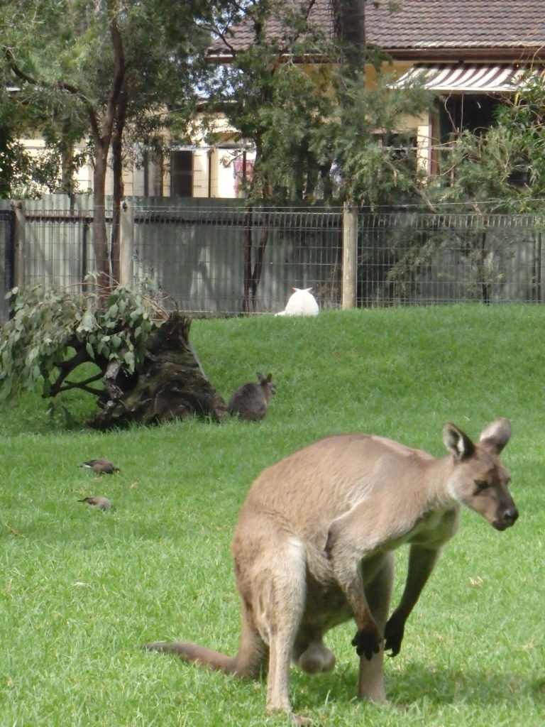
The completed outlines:
<svg viewBox="0 0 545 727">
<path fill-rule="evenodd" d="M 360 310 L 315 319 L 194 321 L 219 393 L 273 372 L 259 424 L 176 423 L 97 433 L 94 403 L 27 395 L 0 417 L 0 727 L 286 724 L 265 683 L 140 651 L 148 640 L 234 653 L 230 557 L 238 509 L 263 467 L 328 433 L 364 430 L 442 455 L 450 419 L 477 438 L 508 417 L 503 460 L 520 509 L 461 529 L 386 664 L 386 707 L 355 699 L 354 626 L 328 635 L 334 672 L 293 669 L 294 709 L 316 725 L 541 727 L 545 719 L 543 529 L 545 308 Z M 108 457 L 112 477 L 78 465 Z M 105 494 L 115 509 L 76 500 Z M 399 598 L 406 552 L 398 554 Z"/>
</svg>

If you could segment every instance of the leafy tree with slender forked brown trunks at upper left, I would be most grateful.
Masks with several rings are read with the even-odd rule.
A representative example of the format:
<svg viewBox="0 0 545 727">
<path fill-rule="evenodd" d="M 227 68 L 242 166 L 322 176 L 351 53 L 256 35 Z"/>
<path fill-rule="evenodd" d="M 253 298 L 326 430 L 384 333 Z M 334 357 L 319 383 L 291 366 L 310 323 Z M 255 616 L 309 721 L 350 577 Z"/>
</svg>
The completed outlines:
<svg viewBox="0 0 545 727">
<path fill-rule="evenodd" d="M 4 77 L 20 86 L 70 173 L 70 151 L 90 137 L 94 169 L 94 252 L 100 289 L 118 279 L 118 249 L 108 250 L 105 179 L 114 160 L 114 222 L 119 217 L 123 138 L 159 106 L 183 105 L 195 92 L 190 60 L 203 33 L 193 22 L 214 3 L 191 0 L 7 0 L 0 9 Z M 67 182 L 65 187 L 70 191 Z M 113 229 L 118 233 L 118 225 Z"/>
</svg>

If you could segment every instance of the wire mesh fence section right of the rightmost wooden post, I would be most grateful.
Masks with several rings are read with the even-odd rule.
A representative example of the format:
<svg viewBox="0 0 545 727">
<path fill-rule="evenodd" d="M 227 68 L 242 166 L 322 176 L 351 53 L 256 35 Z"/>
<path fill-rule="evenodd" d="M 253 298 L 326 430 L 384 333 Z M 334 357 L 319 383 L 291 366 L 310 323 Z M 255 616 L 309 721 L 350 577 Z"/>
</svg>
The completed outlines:
<svg viewBox="0 0 545 727">
<path fill-rule="evenodd" d="M 358 305 L 544 302 L 533 215 L 360 215 Z"/>
</svg>

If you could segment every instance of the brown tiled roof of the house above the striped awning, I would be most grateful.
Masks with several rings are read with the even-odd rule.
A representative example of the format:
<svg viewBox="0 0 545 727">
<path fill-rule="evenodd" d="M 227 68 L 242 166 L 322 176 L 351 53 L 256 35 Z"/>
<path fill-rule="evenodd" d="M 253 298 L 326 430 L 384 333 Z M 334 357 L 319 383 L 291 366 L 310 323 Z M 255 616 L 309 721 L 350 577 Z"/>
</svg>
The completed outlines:
<svg viewBox="0 0 545 727">
<path fill-rule="evenodd" d="M 302 0 L 307 4 L 307 0 Z M 545 0 L 397 0 L 400 9 L 389 11 L 388 0 L 366 0 L 366 40 L 394 57 L 422 54 L 483 55 L 504 52 L 509 57 L 545 52 Z M 291 1 L 286 2 L 290 7 Z M 316 0 L 310 20 L 331 33 L 331 0 Z M 271 23 L 267 33 L 281 35 Z M 233 29 L 234 49 L 253 41 L 249 25 Z M 219 50 L 219 46 L 215 47 Z"/>
</svg>

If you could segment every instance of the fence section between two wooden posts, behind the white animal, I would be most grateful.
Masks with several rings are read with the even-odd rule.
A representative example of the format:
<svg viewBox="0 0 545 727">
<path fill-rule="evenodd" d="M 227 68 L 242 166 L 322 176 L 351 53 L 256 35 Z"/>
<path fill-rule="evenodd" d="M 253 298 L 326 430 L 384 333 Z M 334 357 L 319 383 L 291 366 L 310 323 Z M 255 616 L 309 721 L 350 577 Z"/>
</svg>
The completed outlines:
<svg viewBox="0 0 545 727">
<path fill-rule="evenodd" d="M 142 209 L 134 277 L 189 313 L 283 310 L 296 288 L 340 305 L 340 209 Z"/>
</svg>

